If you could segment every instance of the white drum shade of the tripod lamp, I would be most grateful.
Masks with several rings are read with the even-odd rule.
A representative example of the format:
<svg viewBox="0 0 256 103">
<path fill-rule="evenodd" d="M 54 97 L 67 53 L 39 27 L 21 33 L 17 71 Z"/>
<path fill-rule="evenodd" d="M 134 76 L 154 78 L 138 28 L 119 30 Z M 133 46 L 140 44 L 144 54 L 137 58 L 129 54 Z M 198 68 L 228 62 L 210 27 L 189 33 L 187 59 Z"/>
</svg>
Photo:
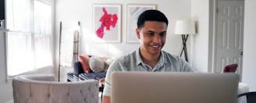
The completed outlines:
<svg viewBox="0 0 256 103">
<path fill-rule="evenodd" d="M 190 20 L 177 20 L 175 34 L 195 34 L 194 22 Z"/>
</svg>

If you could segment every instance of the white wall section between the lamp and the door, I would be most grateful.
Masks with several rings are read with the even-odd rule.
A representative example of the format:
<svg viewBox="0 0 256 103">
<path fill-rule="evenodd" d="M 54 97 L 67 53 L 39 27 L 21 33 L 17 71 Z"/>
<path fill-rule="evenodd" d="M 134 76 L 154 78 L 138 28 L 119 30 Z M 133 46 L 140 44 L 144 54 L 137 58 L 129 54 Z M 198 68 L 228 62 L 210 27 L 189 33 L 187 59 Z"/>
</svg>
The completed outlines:
<svg viewBox="0 0 256 103">
<path fill-rule="evenodd" d="M 192 0 L 191 18 L 195 20 L 197 34 L 193 36 L 191 50 L 192 67 L 199 72 L 208 72 L 209 1 Z"/>
</svg>

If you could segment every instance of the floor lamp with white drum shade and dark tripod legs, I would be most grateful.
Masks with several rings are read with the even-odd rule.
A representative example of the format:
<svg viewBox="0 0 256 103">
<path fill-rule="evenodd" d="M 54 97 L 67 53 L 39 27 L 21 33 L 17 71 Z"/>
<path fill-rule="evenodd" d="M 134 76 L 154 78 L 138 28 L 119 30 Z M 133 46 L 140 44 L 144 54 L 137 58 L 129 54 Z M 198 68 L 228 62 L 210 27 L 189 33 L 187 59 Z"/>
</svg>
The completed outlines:
<svg viewBox="0 0 256 103">
<path fill-rule="evenodd" d="M 181 50 L 180 57 L 184 52 L 185 60 L 188 62 L 186 42 L 189 34 L 195 34 L 194 22 L 190 20 L 177 20 L 176 27 L 175 27 L 175 34 L 182 36 L 183 49 Z"/>
</svg>

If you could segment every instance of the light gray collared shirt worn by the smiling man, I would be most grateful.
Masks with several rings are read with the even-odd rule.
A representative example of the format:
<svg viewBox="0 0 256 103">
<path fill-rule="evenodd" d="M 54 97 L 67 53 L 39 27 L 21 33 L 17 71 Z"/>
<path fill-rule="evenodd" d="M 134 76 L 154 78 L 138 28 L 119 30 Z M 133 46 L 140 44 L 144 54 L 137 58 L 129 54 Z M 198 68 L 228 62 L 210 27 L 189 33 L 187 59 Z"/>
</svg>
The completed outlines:
<svg viewBox="0 0 256 103">
<path fill-rule="evenodd" d="M 154 68 L 144 64 L 140 57 L 140 49 L 124 57 L 119 57 L 109 67 L 105 77 L 103 94 L 111 96 L 111 74 L 115 71 L 147 71 L 147 72 L 194 72 L 185 60 L 179 56 L 161 51 L 158 64 Z"/>
</svg>

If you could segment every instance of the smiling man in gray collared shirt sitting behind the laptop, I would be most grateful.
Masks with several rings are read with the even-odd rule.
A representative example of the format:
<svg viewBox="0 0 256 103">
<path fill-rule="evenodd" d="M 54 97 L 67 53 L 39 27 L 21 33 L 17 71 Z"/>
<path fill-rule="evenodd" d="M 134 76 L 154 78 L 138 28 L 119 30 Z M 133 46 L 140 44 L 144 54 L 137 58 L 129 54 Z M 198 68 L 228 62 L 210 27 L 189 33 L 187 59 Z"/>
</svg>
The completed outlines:
<svg viewBox="0 0 256 103">
<path fill-rule="evenodd" d="M 162 50 L 165 46 L 167 26 L 168 19 L 158 10 L 147 10 L 140 14 L 136 29 L 137 38 L 140 39 L 140 48 L 124 57 L 119 57 L 108 67 L 103 103 L 111 101 L 111 74 L 113 72 L 194 72 L 185 60 Z"/>
</svg>

